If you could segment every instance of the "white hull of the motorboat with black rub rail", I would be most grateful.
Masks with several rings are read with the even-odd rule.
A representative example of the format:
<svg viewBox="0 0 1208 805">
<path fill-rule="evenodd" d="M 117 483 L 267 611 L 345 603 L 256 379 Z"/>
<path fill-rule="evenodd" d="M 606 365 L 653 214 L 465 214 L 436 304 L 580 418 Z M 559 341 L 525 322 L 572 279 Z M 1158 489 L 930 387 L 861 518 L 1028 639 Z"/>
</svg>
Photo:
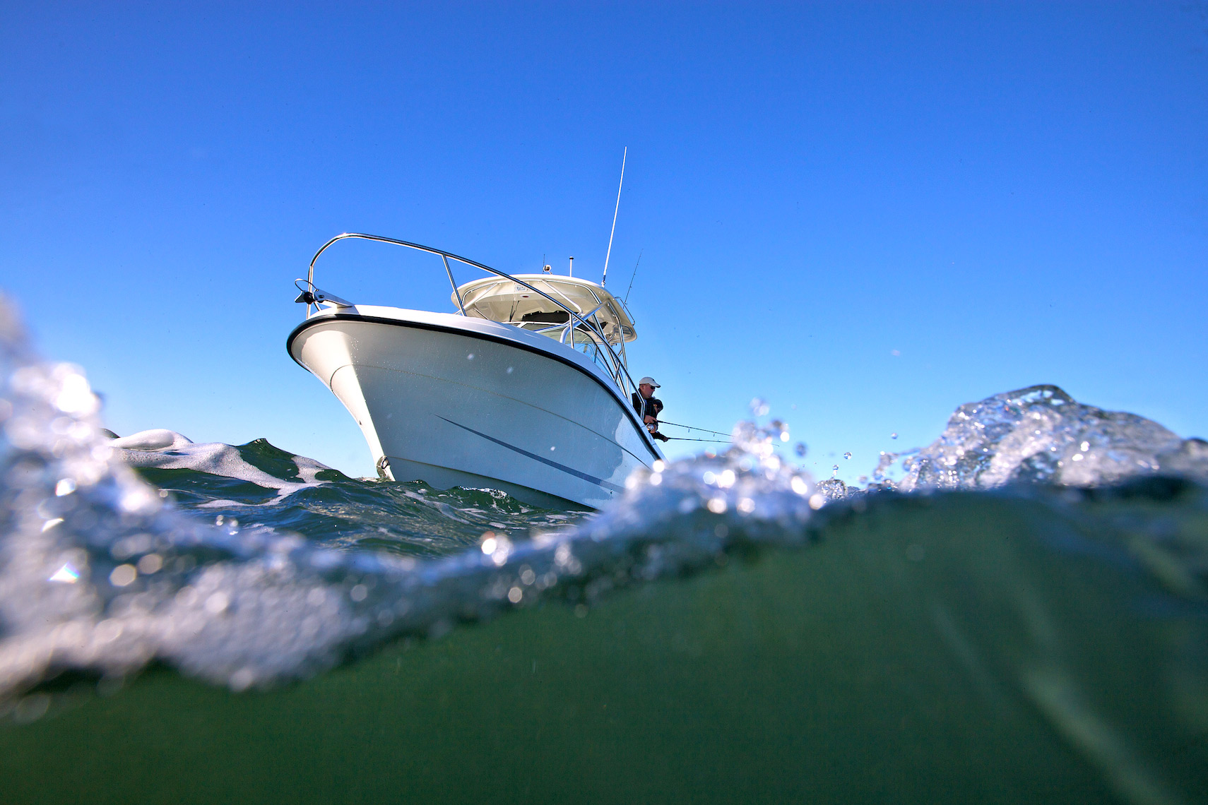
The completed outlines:
<svg viewBox="0 0 1208 805">
<path fill-rule="evenodd" d="M 661 457 L 599 367 L 510 325 L 359 305 L 312 316 L 288 349 L 394 480 L 599 508 Z"/>
</svg>

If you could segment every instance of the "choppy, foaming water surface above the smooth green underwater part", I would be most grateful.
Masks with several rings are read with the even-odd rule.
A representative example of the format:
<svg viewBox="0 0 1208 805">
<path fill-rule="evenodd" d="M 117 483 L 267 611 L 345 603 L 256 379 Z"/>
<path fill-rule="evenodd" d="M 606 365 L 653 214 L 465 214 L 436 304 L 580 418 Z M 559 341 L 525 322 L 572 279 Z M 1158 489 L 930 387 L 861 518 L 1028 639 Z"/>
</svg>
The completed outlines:
<svg viewBox="0 0 1208 805">
<path fill-rule="evenodd" d="M 400 634 L 541 597 L 590 601 L 744 546 L 807 544 L 819 509 L 870 491 L 1091 485 L 1163 468 L 1203 478 L 1208 466 L 1203 442 L 1035 386 L 963 406 L 896 484 L 884 480 L 889 461 L 867 490 L 814 483 L 774 453 L 782 422 L 744 422 L 724 455 L 660 462 L 575 523 L 501 492 L 356 482 L 263 441 L 109 439 L 82 372 L 37 361 L 13 326 L 0 373 L 0 696 L 64 670 L 127 675 L 151 660 L 263 687 Z M 172 495 L 217 511 L 215 523 Z"/>
</svg>

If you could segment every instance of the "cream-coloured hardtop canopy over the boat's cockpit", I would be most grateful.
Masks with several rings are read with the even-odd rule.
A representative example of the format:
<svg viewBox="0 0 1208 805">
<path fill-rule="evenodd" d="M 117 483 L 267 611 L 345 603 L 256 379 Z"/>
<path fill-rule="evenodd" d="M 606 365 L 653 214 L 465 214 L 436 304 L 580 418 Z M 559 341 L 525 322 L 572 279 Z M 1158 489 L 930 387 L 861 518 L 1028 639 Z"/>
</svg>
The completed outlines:
<svg viewBox="0 0 1208 805">
<path fill-rule="evenodd" d="M 515 280 L 522 280 L 557 299 L 558 307 L 540 293 L 534 293 Z M 458 287 L 465 315 L 500 321 L 509 325 L 561 325 L 570 321 L 567 310 L 594 323 L 599 321 L 604 339 L 618 344 L 621 337 L 632 342 L 638 337 L 633 319 L 625 303 L 603 286 L 574 276 L 551 274 L 516 274 L 513 279 L 488 276 Z M 449 297 L 457 304 L 457 293 Z M 588 315 L 593 314 L 593 315 Z"/>
</svg>

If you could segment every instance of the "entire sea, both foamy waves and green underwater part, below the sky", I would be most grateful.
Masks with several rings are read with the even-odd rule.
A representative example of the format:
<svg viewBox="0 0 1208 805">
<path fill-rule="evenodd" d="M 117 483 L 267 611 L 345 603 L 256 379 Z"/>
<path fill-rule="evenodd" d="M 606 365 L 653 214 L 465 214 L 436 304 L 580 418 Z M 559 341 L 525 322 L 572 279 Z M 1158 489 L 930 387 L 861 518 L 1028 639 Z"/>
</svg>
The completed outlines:
<svg viewBox="0 0 1208 805">
<path fill-rule="evenodd" d="M 0 307 L 13 803 L 1208 801 L 1208 444 L 1055 386 L 608 511 L 112 438 Z"/>
</svg>

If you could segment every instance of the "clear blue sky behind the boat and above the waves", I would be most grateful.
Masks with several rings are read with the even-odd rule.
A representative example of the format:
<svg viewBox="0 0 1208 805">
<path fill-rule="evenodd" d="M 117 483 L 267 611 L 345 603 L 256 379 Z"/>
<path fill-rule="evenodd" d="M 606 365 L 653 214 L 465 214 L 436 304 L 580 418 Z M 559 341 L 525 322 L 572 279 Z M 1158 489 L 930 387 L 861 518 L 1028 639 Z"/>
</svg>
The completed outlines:
<svg viewBox="0 0 1208 805">
<path fill-rule="evenodd" d="M 625 146 L 610 286 L 640 252 L 673 421 L 761 396 L 847 479 L 1035 383 L 1208 436 L 1208 4 L 0 5 L 0 287 L 120 433 L 370 473 L 284 348 L 314 250 L 597 278 Z"/>
</svg>

